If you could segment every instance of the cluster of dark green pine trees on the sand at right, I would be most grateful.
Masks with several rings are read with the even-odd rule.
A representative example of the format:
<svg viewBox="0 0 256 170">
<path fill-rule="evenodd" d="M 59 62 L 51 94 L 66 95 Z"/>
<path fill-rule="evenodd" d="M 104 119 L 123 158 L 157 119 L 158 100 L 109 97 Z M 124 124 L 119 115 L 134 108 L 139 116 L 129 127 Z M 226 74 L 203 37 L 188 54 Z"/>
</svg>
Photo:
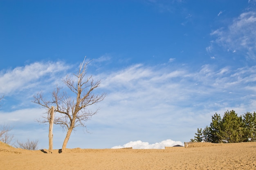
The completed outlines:
<svg viewBox="0 0 256 170">
<path fill-rule="evenodd" d="M 256 113 L 247 112 L 238 116 L 234 110 L 227 110 L 223 117 L 215 113 L 210 126 L 198 128 L 192 142 L 237 143 L 256 141 Z"/>
</svg>

